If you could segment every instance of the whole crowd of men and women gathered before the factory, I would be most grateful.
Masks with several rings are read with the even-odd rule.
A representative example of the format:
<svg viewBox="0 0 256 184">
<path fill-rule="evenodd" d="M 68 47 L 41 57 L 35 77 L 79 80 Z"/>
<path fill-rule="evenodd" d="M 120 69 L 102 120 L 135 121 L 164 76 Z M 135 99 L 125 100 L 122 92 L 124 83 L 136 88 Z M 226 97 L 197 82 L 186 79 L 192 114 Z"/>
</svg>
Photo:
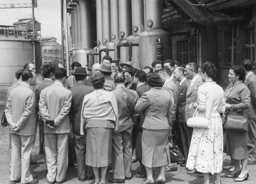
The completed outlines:
<svg viewBox="0 0 256 184">
<path fill-rule="evenodd" d="M 78 180 L 105 184 L 132 179 L 132 163 L 140 162 L 135 175 L 143 184 L 166 181 L 165 173 L 187 167 L 204 184 L 214 175 L 220 184 L 222 169 L 229 178 L 244 181 L 247 165 L 256 164 L 256 75 L 252 62 L 229 69 L 230 85 L 224 91 L 216 82 L 211 62 L 180 67 L 171 59 L 153 61 L 152 67 L 132 67 L 104 56 L 92 66 L 92 76 L 79 62 L 71 76 L 61 62 L 43 66 L 43 81 L 36 85 L 35 65 L 26 63 L 16 72 L 7 91 L 5 116 L 10 127 L 11 184 L 36 184 L 31 160 L 37 125 L 39 154 L 44 155 L 49 184 L 64 183 L 74 141 Z M 242 116 L 248 131 L 225 129 L 230 115 Z M 208 128 L 188 127 L 189 118 L 204 117 Z M 199 122 L 200 123 L 200 122 Z M 72 138 L 70 137 L 72 132 Z M 170 147 L 178 145 L 184 162 L 172 163 Z M 223 165 L 223 152 L 231 158 Z M 153 178 L 153 167 L 159 168 Z"/>
</svg>

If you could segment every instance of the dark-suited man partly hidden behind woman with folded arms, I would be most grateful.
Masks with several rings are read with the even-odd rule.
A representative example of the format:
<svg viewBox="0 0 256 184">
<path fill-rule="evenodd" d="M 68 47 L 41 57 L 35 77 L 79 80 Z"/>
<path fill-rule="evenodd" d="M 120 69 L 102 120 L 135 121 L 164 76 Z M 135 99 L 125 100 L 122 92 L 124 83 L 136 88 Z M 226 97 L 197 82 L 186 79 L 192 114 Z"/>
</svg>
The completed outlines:
<svg viewBox="0 0 256 184">
<path fill-rule="evenodd" d="M 151 68 L 152 69 L 152 68 Z M 147 74 L 144 71 L 138 70 L 134 75 L 134 83 L 137 86 L 136 92 L 138 93 L 139 98 L 143 95 L 143 93 L 149 91 L 148 86 L 146 86 L 145 81 L 147 78 Z M 137 157 L 140 162 L 140 172 L 138 172 L 135 177 L 136 178 L 147 178 L 147 173 L 145 166 L 142 164 L 142 147 L 141 147 L 141 140 L 142 140 L 142 124 L 144 122 L 144 114 L 143 112 L 140 113 L 140 117 L 136 124 L 133 127 L 134 136 L 132 139 L 135 139 L 135 148 L 137 152 Z"/>
</svg>

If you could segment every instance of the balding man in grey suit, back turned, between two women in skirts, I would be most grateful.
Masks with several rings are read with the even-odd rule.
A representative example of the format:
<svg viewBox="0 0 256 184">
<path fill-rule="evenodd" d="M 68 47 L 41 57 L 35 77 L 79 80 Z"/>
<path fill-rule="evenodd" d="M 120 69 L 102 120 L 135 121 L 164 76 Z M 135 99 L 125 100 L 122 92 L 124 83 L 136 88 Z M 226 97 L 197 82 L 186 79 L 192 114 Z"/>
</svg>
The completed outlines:
<svg viewBox="0 0 256 184">
<path fill-rule="evenodd" d="M 134 107 L 139 100 L 136 91 L 127 89 L 124 86 L 125 76 L 123 73 L 116 73 L 114 76 L 116 89 L 112 91 L 116 97 L 118 106 L 117 131 L 112 135 L 112 164 L 114 178 L 109 179 L 110 183 L 125 183 L 125 180 L 132 179 L 132 129 L 133 122 L 139 114 L 134 114 Z"/>
</svg>

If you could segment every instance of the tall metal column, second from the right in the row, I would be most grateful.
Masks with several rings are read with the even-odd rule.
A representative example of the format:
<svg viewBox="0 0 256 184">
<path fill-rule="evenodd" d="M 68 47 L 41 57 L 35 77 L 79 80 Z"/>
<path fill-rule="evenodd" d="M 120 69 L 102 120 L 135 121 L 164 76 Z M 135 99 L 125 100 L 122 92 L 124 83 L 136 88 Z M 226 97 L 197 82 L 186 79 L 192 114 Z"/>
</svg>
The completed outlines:
<svg viewBox="0 0 256 184">
<path fill-rule="evenodd" d="M 132 35 L 126 41 L 139 43 L 139 35 L 144 31 L 144 2 L 143 0 L 132 0 Z M 132 46 L 132 66 L 140 67 L 139 46 Z"/>
</svg>

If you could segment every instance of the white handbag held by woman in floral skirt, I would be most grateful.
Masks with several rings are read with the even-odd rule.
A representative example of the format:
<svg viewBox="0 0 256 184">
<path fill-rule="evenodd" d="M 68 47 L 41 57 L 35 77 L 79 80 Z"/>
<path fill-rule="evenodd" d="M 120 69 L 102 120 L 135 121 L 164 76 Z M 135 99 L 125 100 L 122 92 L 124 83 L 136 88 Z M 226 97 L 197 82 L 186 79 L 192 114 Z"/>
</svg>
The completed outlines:
<svg viewBox="0 0 256 184">
<path fill-rule="evenodd" d="M 204 114 L 204 117 L 195 117 L 196 111 L 197 111 L 197 107 L 193 114 L 193 117 L 188 118 L 187 126 L 195 127 L 195 128 L 209 128 L 209 119 L 205 118 L 205 114 Z"/>
</svg>

